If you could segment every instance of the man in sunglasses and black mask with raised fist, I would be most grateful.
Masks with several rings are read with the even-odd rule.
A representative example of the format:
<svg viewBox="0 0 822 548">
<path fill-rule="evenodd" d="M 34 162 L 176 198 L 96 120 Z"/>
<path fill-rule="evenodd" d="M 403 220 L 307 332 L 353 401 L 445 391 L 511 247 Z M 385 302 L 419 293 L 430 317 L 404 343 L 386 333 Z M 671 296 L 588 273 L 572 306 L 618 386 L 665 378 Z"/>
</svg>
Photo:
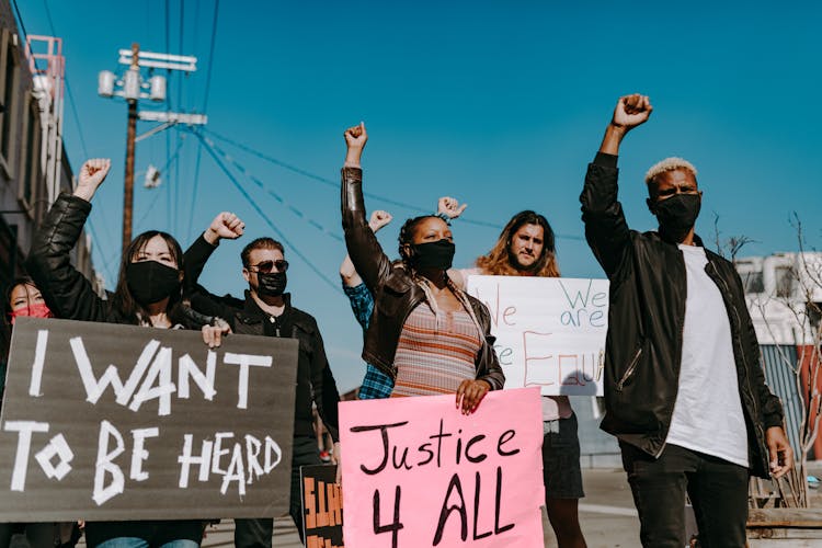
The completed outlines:
<svg viewBox="0 0 822 548">
<path fill-rule="evenodd" d="M 287 336 L 298 339 L 297 397 L 294 410 L 294 455 L 289 514 L 300 539 L 302 511 L 299 467 L 321 465 L 311 414 L 312 403 L 334 441 L 334 455 L 340 455 L 336 404 L 340 395 L 331 374 L 322 336 L 312 316 L 292 306 L 287 285 L 288 261 L 283 244 L 272 238 L 258 238 L 240 253 L 242 277 L 248 282 L 246 298 L 218 297 L 197 284 L 206 261 L 221 239 L 242 236 L 243 222 L 231 213 L 214 218 L 208 229 L 185 252 L 185 279 L 190 284 L 192 307 L 207 316 L 225 319 L 235 333 Z M 219 346 L 220 333 L 204 331 L 209 346 Z M 241 548 L 271 547 L 273 518 L 235 520 L 235 545 Z"/>
</svg>

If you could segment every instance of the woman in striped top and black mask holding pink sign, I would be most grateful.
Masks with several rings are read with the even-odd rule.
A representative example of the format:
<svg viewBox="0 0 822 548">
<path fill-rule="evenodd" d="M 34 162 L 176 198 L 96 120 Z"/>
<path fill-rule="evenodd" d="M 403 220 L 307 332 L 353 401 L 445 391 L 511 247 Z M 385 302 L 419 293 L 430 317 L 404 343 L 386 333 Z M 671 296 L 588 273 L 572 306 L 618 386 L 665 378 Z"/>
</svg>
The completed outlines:
<svg viewBox="0 0 822 548">
<path fill-rule="evenodd" d="M 345 132 L 342 170 L 345 244 L 375 296 L 363 358 L 395 379 L 391 397 L 456 392 L 456 406 L 472 413 L 489 390 L 505 384 L 493 350 L 491 320 L 479 300 L 448 278 L 454 259 L 450 227 L 435 215 L 402 226 L 391 263 L 368 227 L 359 159 L 368 136 L 359 124 Z"/>
</svg>

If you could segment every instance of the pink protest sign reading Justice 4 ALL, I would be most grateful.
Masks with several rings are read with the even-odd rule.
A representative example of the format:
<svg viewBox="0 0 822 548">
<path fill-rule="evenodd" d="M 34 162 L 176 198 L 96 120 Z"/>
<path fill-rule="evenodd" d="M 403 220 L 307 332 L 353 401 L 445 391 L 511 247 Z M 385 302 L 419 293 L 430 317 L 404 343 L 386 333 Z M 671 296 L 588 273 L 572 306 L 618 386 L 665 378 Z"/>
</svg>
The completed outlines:
<svg viewBox="0 0 822 548">
<path fill-rule="evenodd" d="M 346 546 L 543 547 L 538 388 L 340 402 L 340 437 Z"/>
</svg>

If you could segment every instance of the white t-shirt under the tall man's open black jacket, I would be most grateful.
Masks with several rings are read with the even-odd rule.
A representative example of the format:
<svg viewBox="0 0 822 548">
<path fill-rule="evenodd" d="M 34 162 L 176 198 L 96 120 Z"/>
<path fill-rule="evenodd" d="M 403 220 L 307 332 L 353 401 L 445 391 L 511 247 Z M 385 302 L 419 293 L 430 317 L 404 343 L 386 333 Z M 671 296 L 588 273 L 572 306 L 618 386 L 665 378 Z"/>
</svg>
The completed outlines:
<svg viewBox="0 0 822 548">
<path fill-rule="evenodd" d="M 665 443 L 747 467 L 747 430 L 728 310 L 717 284 L 705 272 L 705 250 L 682 244 L 680 249 L 688 293 L 680 390 Z"/>
</svg>

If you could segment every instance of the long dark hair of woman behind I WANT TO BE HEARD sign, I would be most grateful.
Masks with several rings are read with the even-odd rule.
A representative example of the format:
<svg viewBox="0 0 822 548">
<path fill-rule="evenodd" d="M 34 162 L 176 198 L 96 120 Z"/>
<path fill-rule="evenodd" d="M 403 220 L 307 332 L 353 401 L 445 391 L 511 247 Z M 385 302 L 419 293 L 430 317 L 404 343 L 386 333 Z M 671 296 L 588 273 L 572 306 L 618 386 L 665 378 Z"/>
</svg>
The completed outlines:
<svg viewBox="0 0 822 548">
<path fill-rule="evenodd" d="M 119 275 L 117 276 L 117 288 L 114 289 L 114 296 L 112 297 L 112 304 L 115 310 L 123 315 L 124 319 L 139 323 L 142 321 L 150 321 L 148 310 L 132 295 L 132 290 L 128 288 L 128 282 L 126 281 L 126 267 L 134 262 L 139 252 L 148 244 L 148 241 L 155 236 L 159 236 L 165 241 L 169 247 L 169 252 L 172 259 L 176 263 L 179 271 L 183 270 L 183 250 L 180 243 L 168 232 L 160 230 L 148 230 L 142 232 L 137 238 L 132 240 L 128 244 L 125 253 L 119 261 Z M 165 315 L 172 323 L 184 323 L 185 317 L 182 315 L 180 308 L 183 300 L 183 288 L 182 284 L 180 290 L 169 296 L 169 305 L 165 307 Z"/>
</svg>

